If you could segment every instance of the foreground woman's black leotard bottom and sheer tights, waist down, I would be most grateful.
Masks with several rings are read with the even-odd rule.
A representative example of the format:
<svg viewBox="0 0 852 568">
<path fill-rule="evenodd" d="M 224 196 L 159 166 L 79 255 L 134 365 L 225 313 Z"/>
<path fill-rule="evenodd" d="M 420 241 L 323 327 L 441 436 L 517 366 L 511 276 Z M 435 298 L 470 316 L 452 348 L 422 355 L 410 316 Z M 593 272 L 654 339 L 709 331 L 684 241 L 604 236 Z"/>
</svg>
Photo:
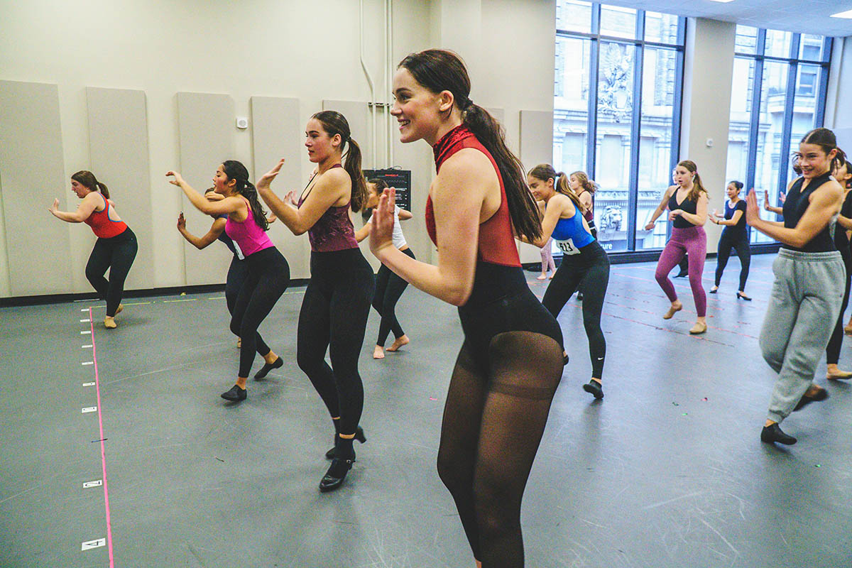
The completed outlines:
<svg viewBox="0 0 852 568">
<path fill-rule="evenodd" d="M 524 564 L 521 497 L 562 375 L 562 334 L 521 268 L 484 262 L 458 309 L 438 473 L 484 568 Z"/>
</svg>

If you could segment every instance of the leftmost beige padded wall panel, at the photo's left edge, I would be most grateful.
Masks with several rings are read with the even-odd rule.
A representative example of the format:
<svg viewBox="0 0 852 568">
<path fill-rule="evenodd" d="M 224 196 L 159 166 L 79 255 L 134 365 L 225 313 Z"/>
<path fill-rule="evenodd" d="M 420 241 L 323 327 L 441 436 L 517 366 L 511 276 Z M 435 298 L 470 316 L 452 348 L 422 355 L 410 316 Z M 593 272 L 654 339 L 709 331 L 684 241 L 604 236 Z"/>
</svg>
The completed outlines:
<svg viewBox="0 0 852 568">
<path fill-rule="evenodd" d="M 72 291 L 68 225 L 50 215 L 68 204 L 59 89 L 0 81 L 0 192 L 11 295 Z M 89 230 L 89 227 L 75 227 Z"/>
</svg>

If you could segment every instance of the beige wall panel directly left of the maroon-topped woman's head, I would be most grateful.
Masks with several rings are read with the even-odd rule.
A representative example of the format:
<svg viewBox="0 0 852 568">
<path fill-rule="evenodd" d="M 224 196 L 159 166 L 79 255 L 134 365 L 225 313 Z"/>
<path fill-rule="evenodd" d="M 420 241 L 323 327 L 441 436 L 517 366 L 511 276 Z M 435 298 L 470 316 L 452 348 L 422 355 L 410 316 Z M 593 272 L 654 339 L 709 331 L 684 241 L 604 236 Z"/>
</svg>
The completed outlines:
<svg viewBox="0 0 852 568">
<path fill-rule="evenodd" d="M 280 198 L 287 192 L 300 191 L 307 180 L 302 178 L 302 164 L 307 161 L 304 135 L 307 118 L 299 113 L 298 99 L 251 97 L 251 144 L 255 175 L 260 178 L 285 158 L 281 173 L 273 181 L 273 191 Z M 268 209 L 268 208 L 266 208 Z M 269 237 L 287 259 L 291 278 L 310 277 L 311 246 L 307 237 L 296 237 L 284 223 L 275 221 Z"/>
</svg>

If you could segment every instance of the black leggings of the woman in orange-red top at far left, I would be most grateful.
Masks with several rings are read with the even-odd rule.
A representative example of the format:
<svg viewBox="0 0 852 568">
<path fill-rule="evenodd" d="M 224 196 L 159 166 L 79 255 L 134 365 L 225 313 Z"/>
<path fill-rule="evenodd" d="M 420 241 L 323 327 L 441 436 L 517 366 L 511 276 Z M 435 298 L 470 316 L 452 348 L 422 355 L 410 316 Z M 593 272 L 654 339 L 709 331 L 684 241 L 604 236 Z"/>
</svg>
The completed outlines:
<svg viewBox="0 0 852 568">
<path fill-rule="evenodd" d="M 121 303 L 121 296 L 124 295 L 124 280 L 127 278 L 127 273 L 130 273 L 130 267 L 133 266 L 138 249 L 136 235 L 130 227 L 127 227 L 124 232 L 115 237 L 99 237 L 95 242 L 95 248 L 92 249 L 92 254 L 89 255 L 89 262 L 86 263 L 86 278 L 97 290 L 101 299 L 107 301 L 107 316 L 111 318 L 115 315 L 118 304 Z M 107 268 L 109 280 L 104 278 Z"/>
</svg>

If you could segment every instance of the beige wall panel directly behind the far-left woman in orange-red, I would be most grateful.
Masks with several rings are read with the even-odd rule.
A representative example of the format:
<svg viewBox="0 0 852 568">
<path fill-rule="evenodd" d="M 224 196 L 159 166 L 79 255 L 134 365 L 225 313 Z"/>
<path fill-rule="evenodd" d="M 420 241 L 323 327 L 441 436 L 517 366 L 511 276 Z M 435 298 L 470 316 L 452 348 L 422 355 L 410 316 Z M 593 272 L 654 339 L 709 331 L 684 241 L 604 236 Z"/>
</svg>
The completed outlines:
<svg viewBox="0 0 852 568">
<path fill-rule="evenodd" d="M 107 184 L 118 215 L 139 241 L 139 252 L 124 287 L 153 288 L 153 201 L 145 93 L 88 87 L 86 104 L 90 168 Z M 169 191 L 169 186 L 163 185 L 158 184 L 158 191 Z"/>
</svg>

